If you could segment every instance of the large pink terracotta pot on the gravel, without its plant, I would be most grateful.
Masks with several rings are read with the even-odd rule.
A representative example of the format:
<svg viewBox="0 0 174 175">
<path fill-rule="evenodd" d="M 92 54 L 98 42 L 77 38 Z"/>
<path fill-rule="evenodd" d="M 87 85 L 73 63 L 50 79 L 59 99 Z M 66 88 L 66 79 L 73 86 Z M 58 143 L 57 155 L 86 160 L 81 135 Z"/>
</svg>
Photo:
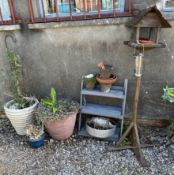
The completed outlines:
<svg viewBox="0 0 174 175">
<path fill-rule="evenodd" d="M 45 128 L 52 138 L 57 140 L 67 139 L 73 134 L 76 115 L 77 112 L 71 112 L 58 120 L 48 120 L 45 122 Z"/>
</svg>

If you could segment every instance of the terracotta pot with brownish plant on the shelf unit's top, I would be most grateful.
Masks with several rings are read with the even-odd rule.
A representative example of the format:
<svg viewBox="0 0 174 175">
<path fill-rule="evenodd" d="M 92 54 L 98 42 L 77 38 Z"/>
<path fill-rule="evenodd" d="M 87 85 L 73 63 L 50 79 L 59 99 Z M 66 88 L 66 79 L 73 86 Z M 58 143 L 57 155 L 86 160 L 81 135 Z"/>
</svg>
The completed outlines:
<svg viewBox="0 0 174 175">
<path fill-rule="evenodd" d="M 98 64 L 100 73 L 96 76 L 97 81 L 100 83 L 102 92 L 109 92 L 113 83 L 116 82 L 117 76 L 112 72 L 112 66 L 103 63 Z"/>
</svg>

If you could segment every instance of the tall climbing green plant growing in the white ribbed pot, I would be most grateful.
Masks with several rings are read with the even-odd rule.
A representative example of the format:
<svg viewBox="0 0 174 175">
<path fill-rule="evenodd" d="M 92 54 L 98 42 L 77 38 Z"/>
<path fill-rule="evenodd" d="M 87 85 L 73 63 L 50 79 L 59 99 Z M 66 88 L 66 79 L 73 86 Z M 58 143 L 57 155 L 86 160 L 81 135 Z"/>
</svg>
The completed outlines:
<svg viewBox="0 0 174 175">
<path fill-rule="evenodd" d="M 22 78 L 22 60 L 19 55 L 13 51 L 7 51 L 7 59 L 11 71 L 11 86 L 13 87 L 13 97 L 19 109 L 23 109 L 29 105 L 29 102 L 24 98 L 20 86 Z"/>
</svg>

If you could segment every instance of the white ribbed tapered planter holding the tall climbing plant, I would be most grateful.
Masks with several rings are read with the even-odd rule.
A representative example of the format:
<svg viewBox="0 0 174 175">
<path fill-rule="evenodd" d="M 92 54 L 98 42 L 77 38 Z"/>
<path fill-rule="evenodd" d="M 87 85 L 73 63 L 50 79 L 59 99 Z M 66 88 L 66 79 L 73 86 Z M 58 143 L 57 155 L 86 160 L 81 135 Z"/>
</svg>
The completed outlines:
<svg viewBox="0 0 174 175">
<path fill-rule="evenodd" d="M 5 114 L 19 135 L 25 135 L 26 126 L 31 124 L 33 112 L 39 103 L 36 98 L 26 99 L 33 100 L 34 104 L 24 109 L 10 109 L 9 106 L 14 103 L 14 100 L 11 100 L 4 105 Z"/>
</svg>

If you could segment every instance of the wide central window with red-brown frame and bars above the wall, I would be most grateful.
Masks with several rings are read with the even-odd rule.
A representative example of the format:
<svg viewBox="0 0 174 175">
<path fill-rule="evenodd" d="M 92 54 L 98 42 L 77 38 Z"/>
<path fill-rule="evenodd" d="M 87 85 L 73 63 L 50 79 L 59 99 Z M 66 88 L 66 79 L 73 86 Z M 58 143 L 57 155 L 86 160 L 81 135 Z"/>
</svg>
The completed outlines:
<svg viewBox="0 0 174 175">
<path fill-rule="evenodd" d="M 125 1 L 128 3 L 125 10 Z M 29 0 L 32 22 L 130 15 L 129 0 Z"/>
</svg>

